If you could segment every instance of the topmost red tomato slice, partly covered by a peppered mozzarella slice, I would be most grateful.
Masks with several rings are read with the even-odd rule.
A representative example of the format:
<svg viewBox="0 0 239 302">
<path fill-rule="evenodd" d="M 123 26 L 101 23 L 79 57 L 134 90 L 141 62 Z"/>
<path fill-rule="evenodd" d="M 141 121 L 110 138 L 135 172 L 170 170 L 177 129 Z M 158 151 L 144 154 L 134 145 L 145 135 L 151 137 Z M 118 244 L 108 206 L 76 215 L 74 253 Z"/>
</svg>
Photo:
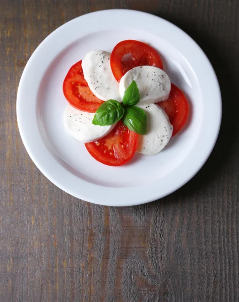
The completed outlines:
<svg viewBox="0 0 239 302">
<path fill-rule="evenodd" d="M 157 51 L 148 44 L 125 40 L 114 46 L 110 56 L 110 66 L 114 78 L 120 82 L 123 75 L 136 66 L 150 65 L 163 69 Z"/>
</svg>

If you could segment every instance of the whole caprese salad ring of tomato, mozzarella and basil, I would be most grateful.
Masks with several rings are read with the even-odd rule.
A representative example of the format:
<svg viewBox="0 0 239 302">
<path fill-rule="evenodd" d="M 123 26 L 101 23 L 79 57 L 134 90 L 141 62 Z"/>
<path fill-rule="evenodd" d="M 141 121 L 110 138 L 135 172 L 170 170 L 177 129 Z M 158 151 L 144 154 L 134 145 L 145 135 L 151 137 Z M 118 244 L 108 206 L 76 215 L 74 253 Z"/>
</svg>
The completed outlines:
<svg viewBox="0 0 239 302">
<path fill-rule="evenodd" d="M 157 51 L 140 41 L 122 41 L 112 53 L 88 52 L 68 71 L 63 92 L 65 129 L 108 166 L 126 164 L 135 152 L 160 152 L 188 117 L 183 92 Z"/>
</svg>

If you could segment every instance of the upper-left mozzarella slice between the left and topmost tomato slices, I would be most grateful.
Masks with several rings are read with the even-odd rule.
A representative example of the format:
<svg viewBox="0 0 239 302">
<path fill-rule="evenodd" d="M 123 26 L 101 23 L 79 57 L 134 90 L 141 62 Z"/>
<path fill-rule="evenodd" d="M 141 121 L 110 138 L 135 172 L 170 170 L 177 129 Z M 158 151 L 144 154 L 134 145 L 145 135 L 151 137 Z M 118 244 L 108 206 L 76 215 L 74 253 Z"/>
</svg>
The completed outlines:
<svg viewBox="0 0 239 302">
<path fill-rule="evenodd" d="M 82 60 L 84 78 L 90 90 L 102 101 L 110 99 L 122 102 L 119 84 L 115 80 L 110 67 L 110 53 L 103 50 L 93 50 Z"/>
</svg>

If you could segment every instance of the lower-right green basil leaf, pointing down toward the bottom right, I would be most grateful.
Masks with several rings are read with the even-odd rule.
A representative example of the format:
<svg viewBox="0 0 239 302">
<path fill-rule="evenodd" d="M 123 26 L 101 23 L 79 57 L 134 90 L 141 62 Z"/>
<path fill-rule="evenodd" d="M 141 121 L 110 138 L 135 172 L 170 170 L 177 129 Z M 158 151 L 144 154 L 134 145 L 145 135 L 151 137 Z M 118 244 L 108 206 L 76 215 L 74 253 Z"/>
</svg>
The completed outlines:
<svg viewBox="0 0 239 302">
<path fill-rule="evenodd" d="M 147 132 L 147 115 L 144 110 L 139 107 L 126 107 L 123 123 L 136 133 L 143 135 Z"/>
</svg>

